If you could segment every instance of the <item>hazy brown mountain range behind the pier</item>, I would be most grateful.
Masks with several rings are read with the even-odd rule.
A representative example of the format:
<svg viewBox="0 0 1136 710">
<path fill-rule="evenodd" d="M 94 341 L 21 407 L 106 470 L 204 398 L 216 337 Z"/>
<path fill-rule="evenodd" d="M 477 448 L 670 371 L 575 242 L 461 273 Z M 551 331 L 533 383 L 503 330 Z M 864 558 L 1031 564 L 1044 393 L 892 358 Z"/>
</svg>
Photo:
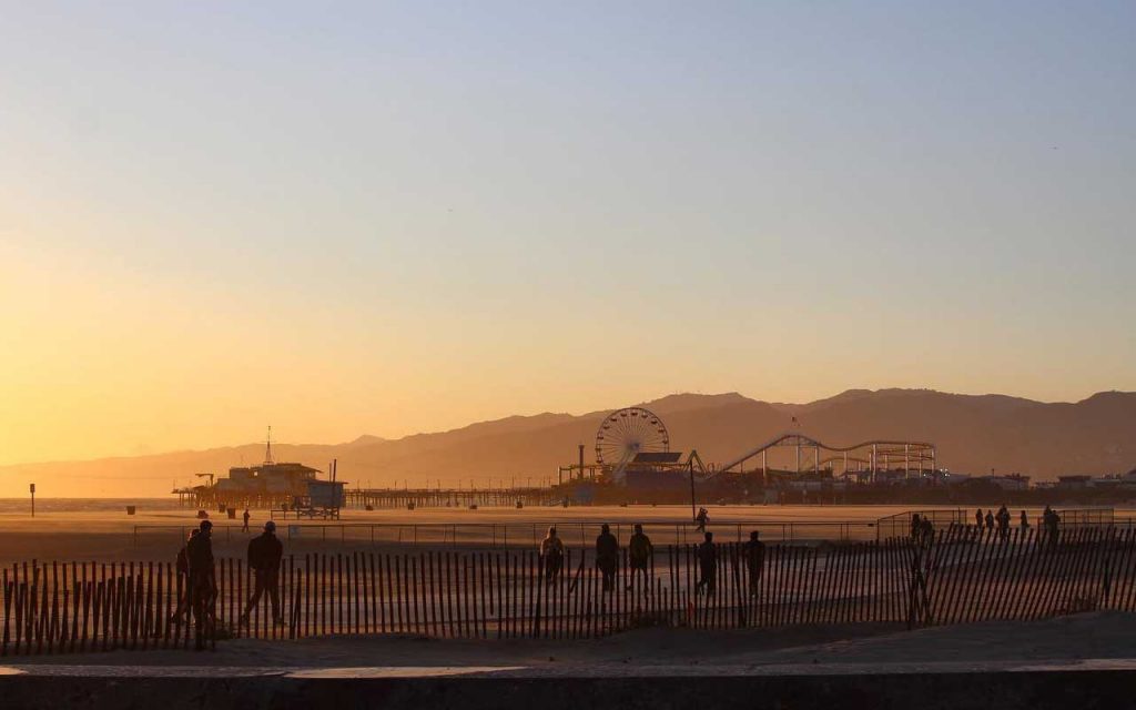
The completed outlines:
<svg viewBox="0 0 1136 710">
<path fill-rule="evenodd" d="M 707 462 L 727 461 L 792 429 L 829 445 L 872 438 L 933 442 L 938 465 L 960 473 L 994 469 L 1050 479 L 1136 467 L 1134 392 L 1101 392 L 1069 403 L 933 390 L 850 390 L 804 404 L 763 402 L 732 392 L 673 394 L 638 406 L 666 423 L 671 450 L 696 449 Z M 337 459 L 340 479 L 351 485 L 470 485 L 470 479 L 479 487 L 491 481 L 519 485 L 554 479 L 558 466 L 576 461 L 580 443 L 591 461 L 596 428 L 609 411 L 513 416 L 396 440 L 364 435 L 342 444 L 274 444 L 273 449 L 277 461 L 300 461 L 321 470 Z M 197 474 L 223 475 L 232 466 L 262 458 L 262 444 L 245 444 L 2 466 L 0 496 L 26 495 L 31 481 L 40 495 L 52 498 L 162 496 L 173 484 L 197 483 Z"/>
</svg>

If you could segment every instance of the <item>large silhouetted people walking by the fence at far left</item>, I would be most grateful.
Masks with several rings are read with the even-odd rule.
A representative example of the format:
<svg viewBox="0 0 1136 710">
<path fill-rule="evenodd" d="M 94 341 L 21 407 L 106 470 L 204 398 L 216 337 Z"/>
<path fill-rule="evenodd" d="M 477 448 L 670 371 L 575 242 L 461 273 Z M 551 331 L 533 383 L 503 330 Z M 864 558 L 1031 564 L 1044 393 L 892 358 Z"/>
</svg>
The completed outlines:
<svg viewBox="0 0 1136 710">
<path fill-rule="evenodd" d="M 244 529 L 248 529 L 249 511 L 244 511 Z M 284 624 L 281 615 L 279 569 L 284 557 L 284 545 L 276 537 L 276 524 L 265 523 L 264 532 L 249 541 L 248 561 L 253 574 L 253 590 L 244 605 L 239 624 L 249 624 L 252 609 L 268 594 L 272 604 L 273 623 Z M 177 574 L 184 577 L 184 593 L 178 599 L 177 609 L 170 621 L 189 621 L 192 613 L 195 625 L 195 646 L 204 648 L 204 640 L 214 620 L 214 605 L 217 601 L 217 571 L 212 554 L 212 523 L 202 520 L 195 531 L 190 533 L 185 546 L 177 554 Z"/>
</svg>

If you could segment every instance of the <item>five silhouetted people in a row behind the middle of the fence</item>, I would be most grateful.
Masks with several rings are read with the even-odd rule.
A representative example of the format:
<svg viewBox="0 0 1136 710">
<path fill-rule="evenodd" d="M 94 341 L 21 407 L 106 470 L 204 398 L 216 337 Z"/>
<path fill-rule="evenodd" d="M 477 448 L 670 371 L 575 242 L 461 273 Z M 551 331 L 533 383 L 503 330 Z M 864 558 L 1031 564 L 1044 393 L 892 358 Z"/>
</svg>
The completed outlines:
<svg viewBox="0 0 1136 710">
<path fill-rule="evenodd" d="M 643 526 L 636 523 L 632 536 L 627 541 L 627 567 L 630 570 L 627 591 L 634 588 L 638 576 L 642 576 L 643 579 L 641 588 L 644 591 L 649 588 L 653 556 L 654 545 L 651 544 L 651 538 L 643 532 Z M 755 594 L 766 561 L 766 544 L 761 542 L 758 531 L 750 533 L 749 542 L 742 546 L 742 556 L 749 573 L 750 593 Z M 541 562 L 548 584 L 554 584 L 560 579 L 563 570 L 563 558 L 565 544 L 553 525 L 549 527 L 548 535 L 541 541 Z M 703 532 L 703 541 L 698 546 L 696 558 L 699 580 L 694 587 L 695 593 L 704 592 L 711 595 L 715 593 L 715 579 L 718 575 L 718 548 L 713 542 L 713 533 Z M 615 590 L 616 574 L 619 570 L 619 541 L 611 534 L 611 526 L 605 523 L 600 526 L 600 534 L 595 538 L 595 567 L 600 570 L 602 590 L 604 592 Z"/>
</svg>

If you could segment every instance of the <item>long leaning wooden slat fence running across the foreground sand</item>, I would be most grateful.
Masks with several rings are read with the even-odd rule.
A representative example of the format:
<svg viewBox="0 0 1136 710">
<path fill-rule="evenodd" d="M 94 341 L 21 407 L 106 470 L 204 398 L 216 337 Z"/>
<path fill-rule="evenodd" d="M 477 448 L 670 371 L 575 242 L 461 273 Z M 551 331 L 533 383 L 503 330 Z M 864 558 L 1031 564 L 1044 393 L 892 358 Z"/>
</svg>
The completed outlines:
<svg viewBox="0 0 1136 710">
<path fill-rule="evenodd" d="M 752 578 L 742 545 L 717 550 L 713 584 L 702 588 L 693 545 L 657 548 L 645 576 L 633 574 L 625 550 L 610 591 L 592 551 L 568 550 L 552 578 L 524 551 L 287 557 L 279 625 L 267 594 L 239 624 L 252 577 L 242 560 L 220 559 L 200 633 L 212 644 L 336 634 L 585 638 L 644 626 L 913 627 L 1136 604 L 1136 534 L 1103 526 L 1060 540 L 955 525 L 920 541 L 768 545 Z M 186 580 L 168 563 L 27 562 L 0 570 L 0 583 L 3 655 L 189 648 L 199 633 L 177 613 Z"/>
</svg>

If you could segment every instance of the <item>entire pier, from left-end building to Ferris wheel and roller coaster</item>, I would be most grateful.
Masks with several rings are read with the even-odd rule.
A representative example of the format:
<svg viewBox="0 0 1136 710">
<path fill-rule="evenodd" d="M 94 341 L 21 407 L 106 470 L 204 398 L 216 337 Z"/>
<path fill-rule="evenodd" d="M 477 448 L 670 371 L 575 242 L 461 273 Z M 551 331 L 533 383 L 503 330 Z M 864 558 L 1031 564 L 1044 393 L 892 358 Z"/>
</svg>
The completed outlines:
<svg viewBox="0 0 1136 710">
<path fill-rule="evenodd" d="M 794 418 L 794 425 L 796 419 Z M 695 483 L 711 488 L 746 490 L 792 488 L 825 490 L 837 481 L 847 483 L 897 482 L 925 475 L 936 475 L 935 445 L 927 442 L 877 440 L 851 446 L 832 446 L 801 432 L 788 432 L 746 451 L 721 466 L 705 465 L 699 452 L 670 450 L 670 432 L 662 418 L 644 407 L 618 409 L 600 421 L 595 432 L 592 463 L 584 462 L 585 445 L 579 444 L 577 463 L 561 466 L 559 484 L 573 484 L 571 495 L 590 500 L 591 483 L 625 487 L 652 498 L 673 498 L 690 488 L 694 499 Z M 788 452 L 788 453 L 786 453 Z M 787 460 L 786 460 L 787 459 Z M 747 466 L 749 465 L 749 466 Z M 320 509 L 337 517 L 339 508 L 349 502 L 360 507 L 468 506 L 500 504 L 502 501 L 525 504 L 548 504 L 562 491 L 550 487 L 501 487 L 475 491 L 420 490 L 351 490 L 335 475 L 335 462 L 328 479 L 301 463 L 277 463 L 272 457 L 272 436 L 265 446 L 265 462 L 254 467 L 231 468 L 227 478 L 198 474 L 208 485 L 178 488 L 174 493 L 183 504 L 202 509 L 269 507 Z M 585 483 L 575 485 L 574 482 Z M 604 486 L 607 487 L 607 486 Z M 634 498 L 634 496 L 633 496 Z M 326 500 L 325 500 L 326 499 Z M 567 504 L 568 498 L 562 499 Z"/>
</svg>

